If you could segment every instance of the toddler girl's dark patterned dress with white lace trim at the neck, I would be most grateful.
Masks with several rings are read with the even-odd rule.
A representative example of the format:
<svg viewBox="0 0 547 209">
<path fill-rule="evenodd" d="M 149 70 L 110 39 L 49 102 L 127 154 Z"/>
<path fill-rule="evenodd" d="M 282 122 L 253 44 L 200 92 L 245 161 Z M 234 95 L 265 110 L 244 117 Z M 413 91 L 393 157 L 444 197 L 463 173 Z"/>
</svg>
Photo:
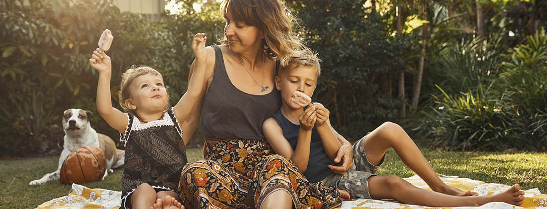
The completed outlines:
<svg viewBox="0 0 547 209">
<path fill-rule="evenodd" d="M 156 192 L 177 192 L 181 171 L 188 162 L 182 140 L 182 130 L 173 108 L 162 119 L 141 123 L 127 114 L 129 123 L 120 142 L 125 146 L 125 168 L 121 176 L 121 207 L 131 207 L 131 194 L 143 184 Z"/>
</svg>

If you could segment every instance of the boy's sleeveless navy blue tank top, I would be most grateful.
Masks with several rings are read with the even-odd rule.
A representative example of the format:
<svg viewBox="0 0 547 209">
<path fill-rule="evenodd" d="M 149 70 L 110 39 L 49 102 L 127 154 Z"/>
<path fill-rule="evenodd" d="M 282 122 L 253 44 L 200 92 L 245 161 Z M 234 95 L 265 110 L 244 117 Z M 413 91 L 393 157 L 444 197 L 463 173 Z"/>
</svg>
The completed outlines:
<svg viewBox="0 0 547 209">
<path fill-rule="evenodd" d="M 281 126 L 283 136 L 289 141 L 290 147 L 292 147 L 293 150 L 296 149 L 300 125 L 296 125 L 289 121 L 279 110 L 274 114 L 274 118 Z M 323 148 L 321 137 L 319 137 L 319 132 L 317 132 L 317 128 L 313 126 L 313 129 L 311 130 L 310 159 L 308 160 L 308 166 L 306 172 L 304 172 L 304 176 L 306 176 L 311 183 L 320 182 L 332 173 L 328 165 L 339 166 L 339 164 L 336 164 L 327 156 L 327 153 Z"/>
</svg>

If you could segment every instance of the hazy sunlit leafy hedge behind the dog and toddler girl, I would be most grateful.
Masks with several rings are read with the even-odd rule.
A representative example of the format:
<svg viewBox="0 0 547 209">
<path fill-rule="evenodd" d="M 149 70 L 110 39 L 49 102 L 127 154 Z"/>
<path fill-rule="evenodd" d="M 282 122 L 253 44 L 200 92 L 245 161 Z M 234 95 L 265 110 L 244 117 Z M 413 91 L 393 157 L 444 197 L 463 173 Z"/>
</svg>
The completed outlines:
<svg viewBox="0 0 547 209">
<path fill-rule="evenodd" d="M 190 13 L 178 19 L 162 14 L 163 18 L 153 21 L 121 13 L 111 1 L 0 2 L 0 92 L 7 95 L 0 101 L 0 156 L 59 152 L 62 112 L 83 108 L 97 113 L 97 73 L 88 59 L 104 28 L 110 28 L 115 39 L 107 52 L 112 57 L 113 105 L 118 107 L 120 75 L 132 65 L 158 69 L 171 103 L 177 102 L 187 89 L 193 60 L 193 36 L 188 34 L 222 31 L 218 19 L 203 18 L 211 14 L 200 16 L 191 4 L 189 8 Z M 91 121 L 97 132 L 117 140 L 119 133 L 99 114 Z"/>
</svg>

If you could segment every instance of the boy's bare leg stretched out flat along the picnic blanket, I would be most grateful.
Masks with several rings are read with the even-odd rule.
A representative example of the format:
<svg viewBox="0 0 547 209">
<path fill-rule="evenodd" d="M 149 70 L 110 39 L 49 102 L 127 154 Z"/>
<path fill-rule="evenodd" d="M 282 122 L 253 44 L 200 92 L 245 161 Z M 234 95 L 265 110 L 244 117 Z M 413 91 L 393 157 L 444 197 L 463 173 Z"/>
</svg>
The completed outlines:
<svg viewBox="0 0 547 209">
<path fill-rule="evenodd" d="M 488 202 L 506 202 L 520 206 L 524 191 L 520 185 L 500 194 L 490 196 L 453 196 L 436 191 L 420 189 L 398 176 L 371 176 L 368 179 L 370 196 L 373 199 L 394 199 L 404 204 L 430 207 L 481 206 Z"/>
</svg>

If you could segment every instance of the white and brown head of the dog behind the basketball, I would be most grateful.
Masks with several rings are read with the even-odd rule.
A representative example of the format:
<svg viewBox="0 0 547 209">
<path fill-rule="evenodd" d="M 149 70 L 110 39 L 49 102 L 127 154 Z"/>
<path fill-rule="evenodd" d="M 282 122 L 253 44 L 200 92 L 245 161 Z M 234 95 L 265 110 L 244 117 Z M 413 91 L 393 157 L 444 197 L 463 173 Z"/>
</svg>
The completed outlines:
<svg viewBox="0 0 547 209">
<path fill-rule="evenodd" d="M 77 133 L 89 127 L 89 119 L 93 115 L 91 111 L 83 109 L 67 109 L 63 113 L 63 129 L 66 133 Z"/>
</svg>

